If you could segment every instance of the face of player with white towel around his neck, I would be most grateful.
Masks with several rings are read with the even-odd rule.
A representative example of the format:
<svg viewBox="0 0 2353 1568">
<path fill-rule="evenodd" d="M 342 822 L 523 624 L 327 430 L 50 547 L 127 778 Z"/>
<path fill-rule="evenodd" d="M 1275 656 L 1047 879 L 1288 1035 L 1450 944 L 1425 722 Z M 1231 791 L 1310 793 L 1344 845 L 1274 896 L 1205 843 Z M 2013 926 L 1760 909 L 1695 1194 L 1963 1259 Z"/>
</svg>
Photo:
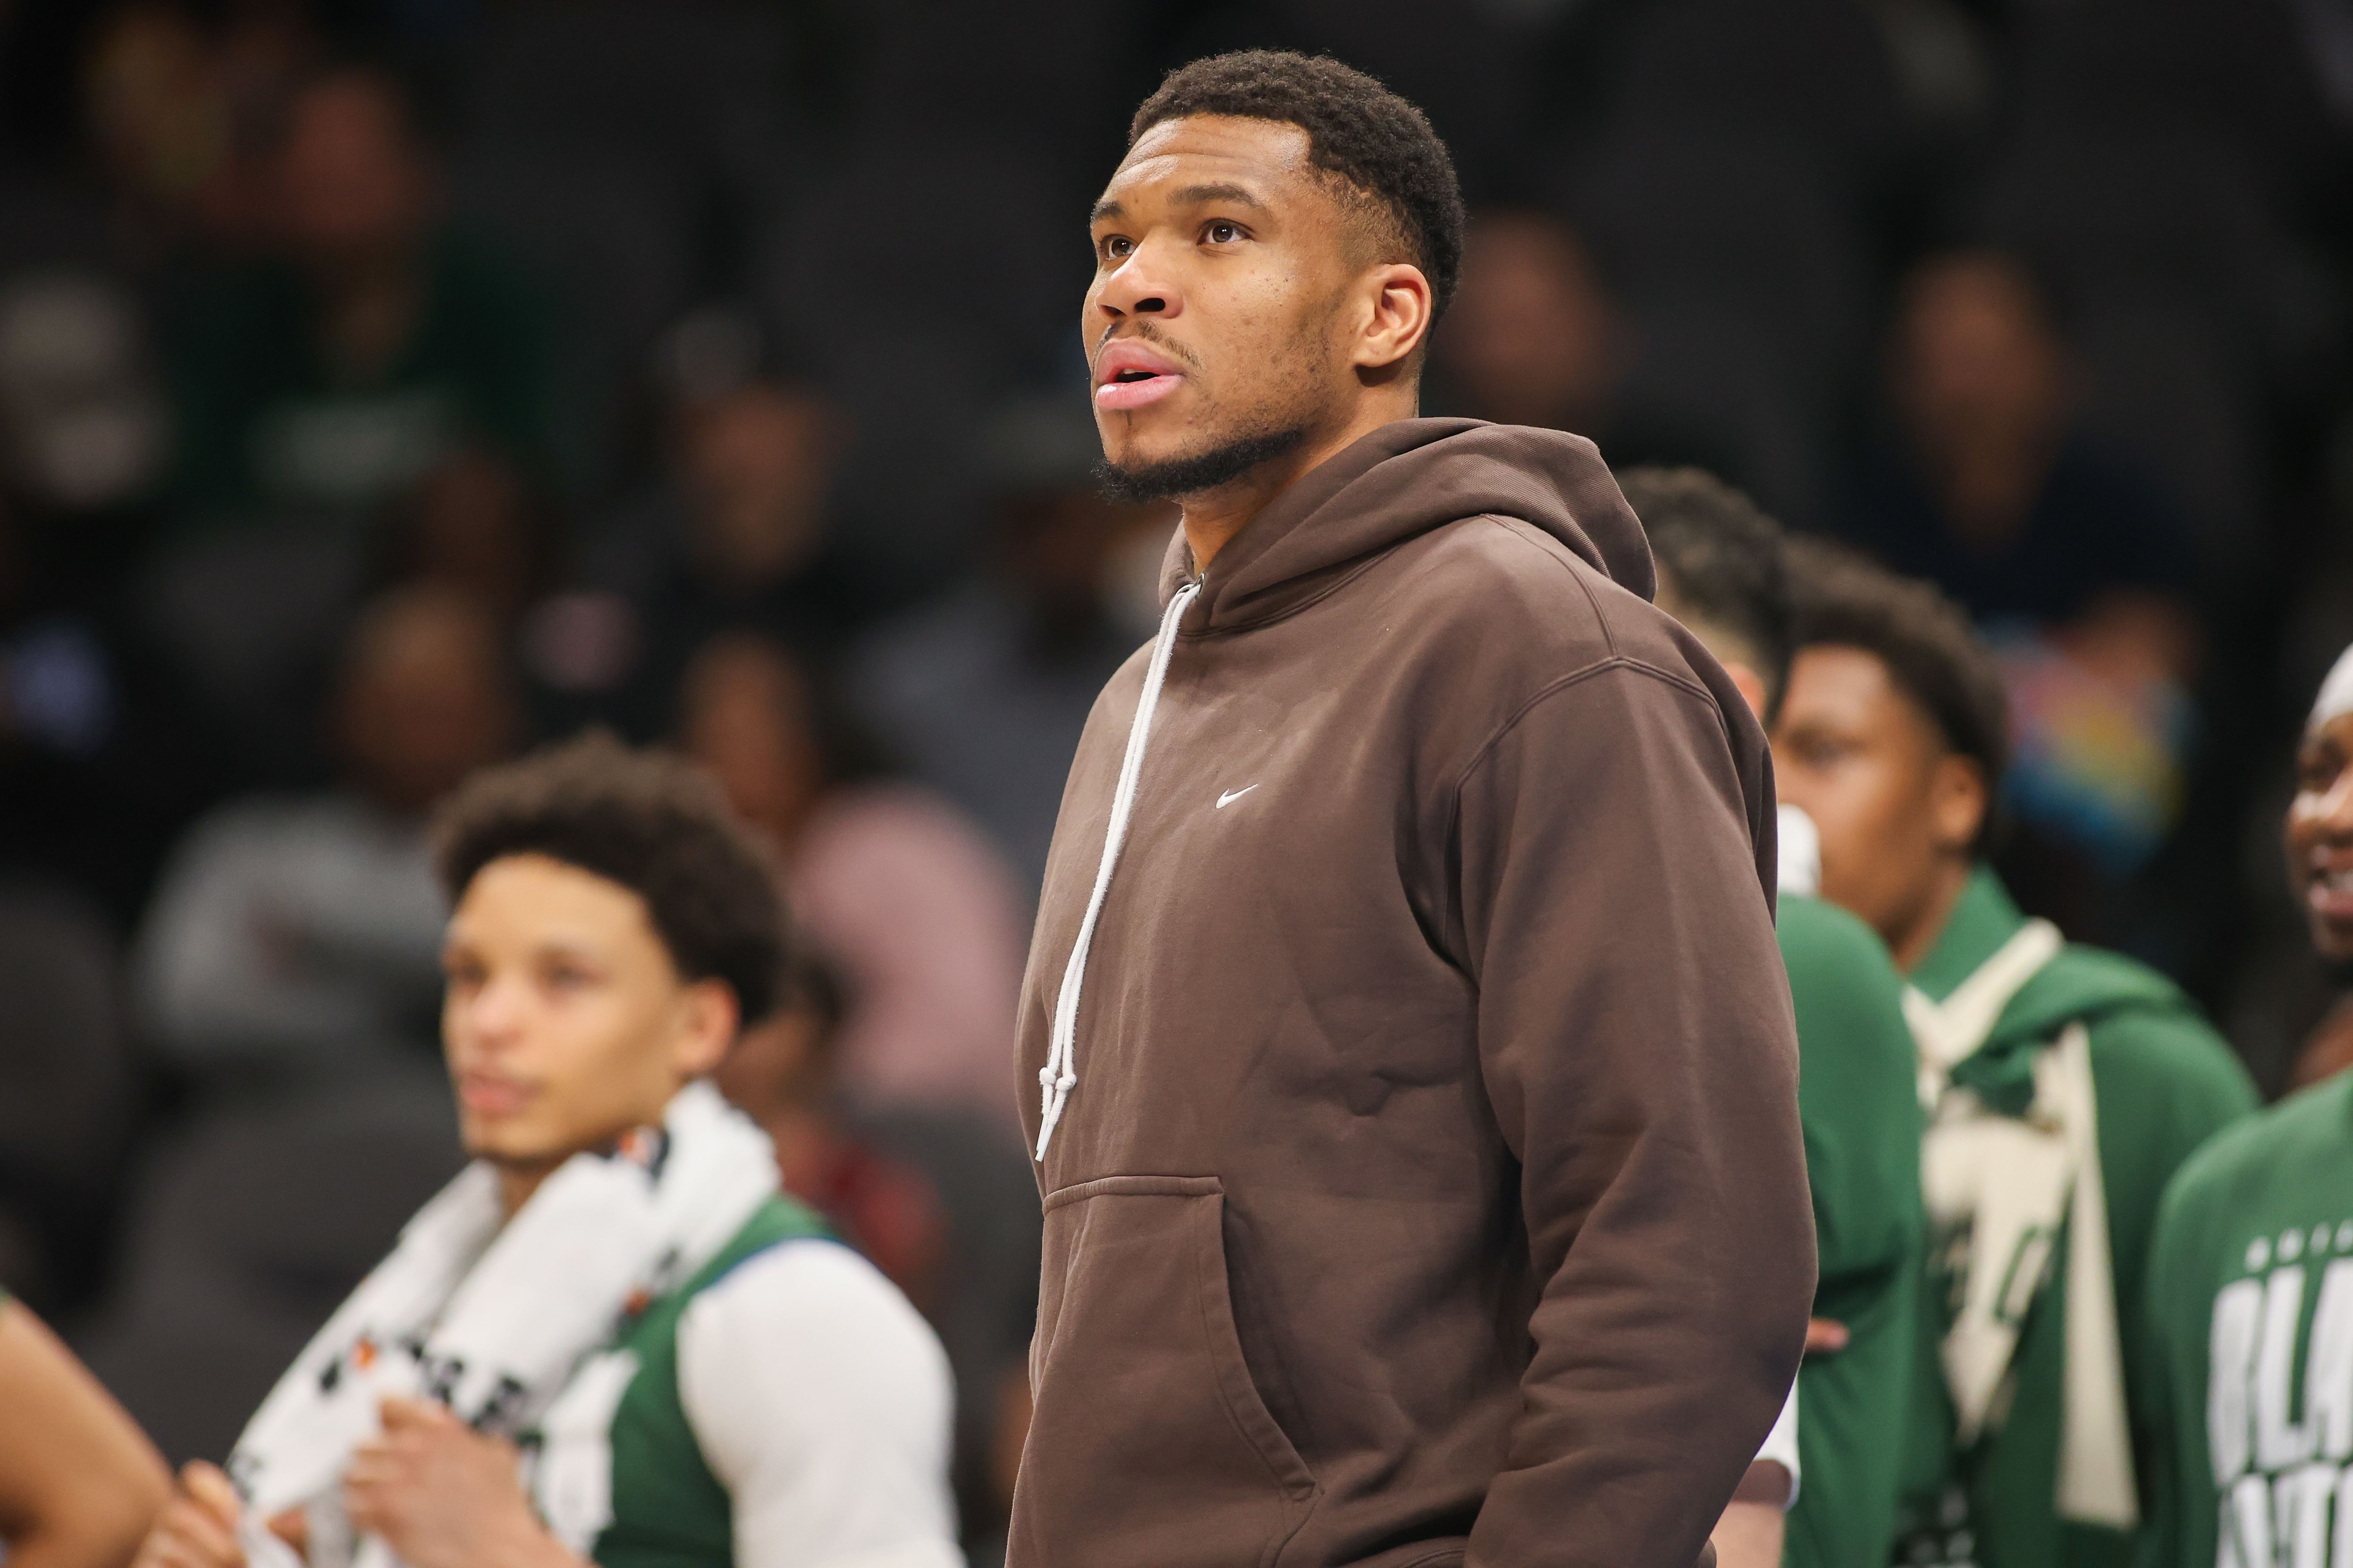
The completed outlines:
<svg viewBox="0 0 2353 1568">
<path fill-rule="evenodd" d="M 546 1171 L 659 1121 L 734 1032 L 732 992 L 680 980 L 638 893 L 548 856 L 475 875 L 442 971 L 459 1131 L 508 1168 Z"/>
</svg>

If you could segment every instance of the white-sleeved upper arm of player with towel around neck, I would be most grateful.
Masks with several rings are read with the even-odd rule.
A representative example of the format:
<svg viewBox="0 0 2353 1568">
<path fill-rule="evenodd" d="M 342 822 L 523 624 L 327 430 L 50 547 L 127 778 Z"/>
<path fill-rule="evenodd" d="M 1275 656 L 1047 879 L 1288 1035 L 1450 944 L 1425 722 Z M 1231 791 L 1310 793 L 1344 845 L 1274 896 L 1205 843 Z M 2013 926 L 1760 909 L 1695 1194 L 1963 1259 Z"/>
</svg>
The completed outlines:
<svg viewBox="0 0 2353 1568">
<path fill-rule="evenodd" d="M 727 1488 L 734 1568 L 962 1568 L 948 1356 L 849 1248 L 786 1241 L 694 1298 L 678 1399 Z"/>
</svg>

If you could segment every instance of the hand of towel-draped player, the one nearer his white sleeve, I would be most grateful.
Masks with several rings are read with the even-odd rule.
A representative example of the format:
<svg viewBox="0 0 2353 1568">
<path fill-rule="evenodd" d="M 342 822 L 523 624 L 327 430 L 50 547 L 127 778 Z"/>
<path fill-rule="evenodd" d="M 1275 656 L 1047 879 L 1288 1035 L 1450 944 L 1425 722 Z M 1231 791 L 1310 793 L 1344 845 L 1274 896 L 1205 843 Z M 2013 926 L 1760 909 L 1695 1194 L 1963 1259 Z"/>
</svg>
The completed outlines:
<svg viewBox="0 0 2353 1568">
<path fill-rule="evenodd" d="M 384 1436 L 344 1469 L 355 1530 L 381 1535 L 407 1568 L 576 1568 L 532 1514 L 513 1443 L 421 1399 L 386 1399 L 379 1415 Z"/>
</svg>

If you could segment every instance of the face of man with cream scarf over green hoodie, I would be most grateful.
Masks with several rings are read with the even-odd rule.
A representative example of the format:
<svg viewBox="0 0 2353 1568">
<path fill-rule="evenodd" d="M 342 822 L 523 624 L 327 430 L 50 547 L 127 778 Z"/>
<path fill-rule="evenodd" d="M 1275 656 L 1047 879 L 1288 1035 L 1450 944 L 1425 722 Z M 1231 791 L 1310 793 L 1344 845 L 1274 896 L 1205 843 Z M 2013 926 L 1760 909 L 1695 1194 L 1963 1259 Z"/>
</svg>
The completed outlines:
<svg viewBox="0 0 2353 1568">
<path fill-rule="evenodd" d="M 1875 654 L 1802 649 L 1772 736 L 1781 799 L 1821 830 L 1821 896 L 1906 950 L 1984 818 L 1977 769 Z"/>
</svg>

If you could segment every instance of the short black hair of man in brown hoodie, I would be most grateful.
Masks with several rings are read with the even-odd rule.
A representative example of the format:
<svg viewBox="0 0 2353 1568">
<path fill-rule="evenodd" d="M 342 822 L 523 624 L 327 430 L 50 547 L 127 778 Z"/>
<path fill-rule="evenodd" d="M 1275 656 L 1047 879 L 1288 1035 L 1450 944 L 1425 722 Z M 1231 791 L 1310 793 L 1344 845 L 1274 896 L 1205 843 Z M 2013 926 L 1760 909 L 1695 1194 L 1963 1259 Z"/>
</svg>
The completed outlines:
<svg viewBox="0 0 2353 1568">
<path fill-rule="evenodd" d="M 1240 49 L 1169 71 L 1127 125 L 1127 146 L 1186 115 L 1282 120 L 1308 134 L 1308 162 L 1367 209 L 1384 249 L 1431 280 L 1431 320 L 1447 313 L 1464 268 L 1464 195 L 1447 143 L 1428 118 L 1322 54 Z"/>
</svg>

